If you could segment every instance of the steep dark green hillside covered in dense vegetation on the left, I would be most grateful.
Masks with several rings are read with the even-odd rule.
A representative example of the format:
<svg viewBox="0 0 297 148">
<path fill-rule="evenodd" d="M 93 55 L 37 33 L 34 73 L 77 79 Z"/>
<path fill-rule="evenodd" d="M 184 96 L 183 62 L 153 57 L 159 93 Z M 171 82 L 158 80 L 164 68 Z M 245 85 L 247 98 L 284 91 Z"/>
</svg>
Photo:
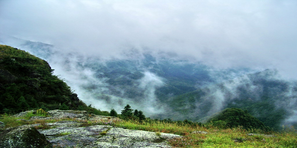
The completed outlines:
<svg viewBox="0 0 297 148">
<path fill-rule="evenodd" d="M 58 76 L 48 62 L 28 52 L 0 45 L 0 114 L 44 110 L 88 110 L 107 114 L 87 106 Z"/>
</svg>

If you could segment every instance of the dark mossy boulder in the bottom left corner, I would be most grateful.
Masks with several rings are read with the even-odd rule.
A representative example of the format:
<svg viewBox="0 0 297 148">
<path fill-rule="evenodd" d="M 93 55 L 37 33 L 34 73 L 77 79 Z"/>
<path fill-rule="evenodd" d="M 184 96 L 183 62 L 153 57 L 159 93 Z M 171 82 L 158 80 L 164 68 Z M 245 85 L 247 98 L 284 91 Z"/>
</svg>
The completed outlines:
<svg viewBox="0 0 297 148">
<path fill-rule="evenodd" d="M 34 127 L 18 126 L 0 132 L 0 148 L 51 148 L 44 134 Z"/>
</svg>

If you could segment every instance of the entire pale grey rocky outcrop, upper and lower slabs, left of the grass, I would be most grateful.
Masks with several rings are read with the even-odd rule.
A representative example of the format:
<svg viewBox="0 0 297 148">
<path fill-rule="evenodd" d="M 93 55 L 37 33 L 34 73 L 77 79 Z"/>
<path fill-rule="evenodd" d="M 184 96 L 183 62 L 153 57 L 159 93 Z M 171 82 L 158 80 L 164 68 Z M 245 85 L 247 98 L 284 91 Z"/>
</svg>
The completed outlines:
<svg viewBox="0 0 297 148">
<path fill-rule="evenodd" d="M 169 148 L 168 140 L 181 137 L 170 133 L 115 127 L 112 126 L 113 122 L 119 121 L 119 118 L 94 115 L 86 111 L 52 110 L 48 111 L 48 114 L 52 117 L 35 116 L 30 120 L 62 118 L 75 118 L 76 120 L 23 125 L 18 128 L 37 128 L 38 131 L 36 131 L 45 136 L 53 147 L 71 148 Z M 95 124 L 90 124 L 88 121 L 93 121 L 92 123 Z"/>
</svg>

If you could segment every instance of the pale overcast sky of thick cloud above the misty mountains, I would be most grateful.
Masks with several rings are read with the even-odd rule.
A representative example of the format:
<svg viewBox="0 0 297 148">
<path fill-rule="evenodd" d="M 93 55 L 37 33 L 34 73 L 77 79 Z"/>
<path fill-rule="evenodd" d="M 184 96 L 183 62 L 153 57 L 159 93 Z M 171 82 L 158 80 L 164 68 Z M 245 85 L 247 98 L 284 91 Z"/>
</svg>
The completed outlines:
<svg viewBox="0 0 297 148">
<path fill-rule="evenodd" d="M 0 33 L 108 57 L 176 52 L 297 79 L 296 0 L 0 0 Z"/>
</svg>

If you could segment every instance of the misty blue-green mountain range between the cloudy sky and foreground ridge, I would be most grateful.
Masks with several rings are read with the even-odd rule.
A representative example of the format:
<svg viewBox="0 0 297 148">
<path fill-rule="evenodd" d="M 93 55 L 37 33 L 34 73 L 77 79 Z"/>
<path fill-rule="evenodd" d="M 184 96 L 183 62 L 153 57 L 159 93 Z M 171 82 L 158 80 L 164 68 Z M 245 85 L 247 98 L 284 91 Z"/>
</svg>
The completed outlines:
<svg viewBox="0 0 297 148">
<path fill-rule="evenodd" d="M 130 104 L 151 118 L 205 122 L 216 112 L 236 107 L 274 129 L 297 123 L 297 83 L 281 79 L 277 70 L 220 70 L 174 54 L 136 49 L 126 51 L 126 58 L 104 59 L 40 42 L 0 38 L 8 40 L 45 57 L 84 102 L 102 110 L 119 112 Z"/>
</svg>

